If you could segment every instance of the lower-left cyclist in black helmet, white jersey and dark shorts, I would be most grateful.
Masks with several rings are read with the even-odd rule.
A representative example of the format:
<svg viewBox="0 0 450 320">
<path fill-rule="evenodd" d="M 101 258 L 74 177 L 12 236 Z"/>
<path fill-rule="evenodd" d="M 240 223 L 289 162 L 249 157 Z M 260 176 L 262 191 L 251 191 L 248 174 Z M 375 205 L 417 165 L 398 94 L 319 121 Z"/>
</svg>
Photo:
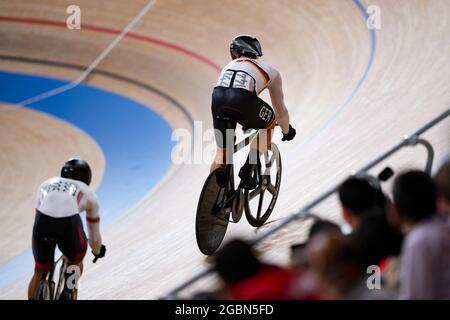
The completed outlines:
<svg viewBox="0 0 450 320">
<path fill-rule="evenodd" d="M 39 186 L 33 227 L 34 275 L 28 287 L 28 298 L 34 299 L 39 283 L 45 278 L 54 260 L 55 248 L 69 259 L 69 265 L 83 269 L 87 242 L 98 258 L 106 247 L 100 235 L 97 196 L 89 188 L 91 169 L 81 159 L 68 160 L 61 176 L 46 180 Z M 80 213 L 86 211 L 89 240 L 83 229 Z"/>
</svg>

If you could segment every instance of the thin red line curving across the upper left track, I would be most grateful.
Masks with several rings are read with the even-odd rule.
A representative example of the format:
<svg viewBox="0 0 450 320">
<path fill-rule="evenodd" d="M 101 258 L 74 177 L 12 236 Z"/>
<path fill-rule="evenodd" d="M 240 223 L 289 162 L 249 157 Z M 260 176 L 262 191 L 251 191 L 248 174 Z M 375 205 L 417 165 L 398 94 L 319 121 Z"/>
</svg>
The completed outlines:
<svg viewBox="0 0 450 320">
<path fill-rule="evenodd" d="M 64 22 L 44 20 L 44 19 L 35 19 L 35 18 L 0 16 L 0 21 L 66 28 L 66 24 Z M 82 28 L 85 30 L 93 31 L 93 32 L 109 33 L 109 34 L 115 34 L 115 35 L 118 35 L 122 32 L 122 30 L 118 30 L 118 29 L 98 27 L 98 26 L 89 25 L 89 24 L 83 24 Z M 221 70 L 220 66 L 217 65 L 216 63 L 214 63 L 213 61 L 211 61 L 210 59 L 208 59 L 192 50 L 189 50 L 189 49 L 183 48 L 179 45 L 176 45 L 174 43 L 170 43 L 170 42 L 167 42 L 167 41 L 164 41 L 161 39 L 157 39 L 157 38 L 153 38 L 150 36 L 133 33 L 133 32 L 127 33 L 126 37 L 136 39 L 138 41 L 152 43 L 157 46 L 161 46 L 164 48 L 178 51 L 182 54 L 185 54 L 187 56 L 190 56 L 191 58 L 194 58 L 198 61 L 201 61 L 201 62 L 207 64 L 208 66 L 210 66 L 211 68 L 213 68 L 216 71 Z"/>
</svg>

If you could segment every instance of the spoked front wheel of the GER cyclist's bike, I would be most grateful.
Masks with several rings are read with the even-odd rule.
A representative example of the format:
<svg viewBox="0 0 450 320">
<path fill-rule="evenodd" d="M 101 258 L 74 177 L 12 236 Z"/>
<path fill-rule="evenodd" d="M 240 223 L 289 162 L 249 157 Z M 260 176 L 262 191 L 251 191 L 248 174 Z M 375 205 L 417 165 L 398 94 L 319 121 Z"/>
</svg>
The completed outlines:
<svg viewBox="0 0 450 320">
<path fill-rule="evenodd" d="M 260 156 L 253 174 L 259 184 L 254 190 L 245 190 L 245 216 L 258 228 L 269 219 L 280 191 L 281 155 L 274 143 Z"/>
</svg>

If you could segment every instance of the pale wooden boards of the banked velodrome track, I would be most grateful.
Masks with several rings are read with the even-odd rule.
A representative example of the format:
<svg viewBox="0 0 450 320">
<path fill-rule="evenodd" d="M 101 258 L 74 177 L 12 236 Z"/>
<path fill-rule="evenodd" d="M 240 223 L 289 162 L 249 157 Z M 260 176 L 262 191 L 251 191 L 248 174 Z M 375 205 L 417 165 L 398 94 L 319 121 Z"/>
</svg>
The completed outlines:
<svg viewBox="0 0 450 320">
<path fill-rule="evenodd" d="M 0 0 L 0 70 L 72 81 L 82 70 L 63 64 L 87 68 L 117 36 L 111 30 L 120 32 L 147 1 L 78 0 L 81 31 L 61 27 L 72 3 Z M 87 82 L 152 106 L 173 128 L 192 130 L 194 120 L 209 128 L 211 89 L 217 68 L 229 60 L 228 43 L 236 34 L 255 34 L 263 58 L 283 75 L 298 133 L 291 143 L 276 137 L 283 181 L 271 219 L 279 219 L 449 107 L 450 2 L 362 3 L 380 7 L 380 30 L 371 33 L 361 8 L 351 0 L 160 0 L 131 30 L 134 36 L 124 38 L 96 70 L 139 81 L 172 99 L 97 72 Z M 62 133 L 58 140 L 50 138 L 52 130 Z M 449 119 L 425 137 L 435 147 L 437 163 L 450 152 Z M 97 186 L 104 159 L 95 141 L 78 128 L 11 106 L 0 107 L 0 145 L 4 264 L 30 247 L 39 183 L 75 153 L 91 162 Z M 424 161 L 418 147 L 386 164 L 399 170 L 422 167 Z M 194 219 L 207 173 L 206 163 L 174 165 L 139 203 L 103 226 L 108 256 L 96 265 L 86 259 L 80 298 L 156 298 L 206 266 L 196 246 Z M 335 199 L 317 213 L 341 222 Z M 287 244 L 301 240 L 305 228 L 294 225 L 260 249 L 267 251 L 267 259 L 284 262 Z M 228 232 L 228 237 L 255 234 L 243 221 Z M 270 250 L 275 247 L 276 254 Z M 25 298 L 29 277 L 0 288 L 0 298 Z"/>
</svg>

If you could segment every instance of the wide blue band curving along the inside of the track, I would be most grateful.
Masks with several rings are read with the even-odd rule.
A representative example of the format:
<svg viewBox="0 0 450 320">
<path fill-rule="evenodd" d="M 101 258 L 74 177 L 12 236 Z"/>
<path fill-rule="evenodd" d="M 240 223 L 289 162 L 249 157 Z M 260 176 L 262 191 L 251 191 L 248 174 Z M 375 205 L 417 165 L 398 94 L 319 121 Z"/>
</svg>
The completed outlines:
<svg viewBox="0 0 450 320">
<path fill-rule="evenodd" d="M 49 77 L 0 71 L 0 101 L 15 104 L 67 83 Z M 125 96 L 80 84 L 27 108 L 71 123 L 100 146 L 106 163 L 97 190 L 102 226 L 136 204 L 170 166 L 174 146 L 170 126 L 158 114 Z M 18 163 L 20 165 L 20 161 Z M 0 288 L 30 273 L 33 264 L 30 249 L 3 264 Z"/>
</svg>

